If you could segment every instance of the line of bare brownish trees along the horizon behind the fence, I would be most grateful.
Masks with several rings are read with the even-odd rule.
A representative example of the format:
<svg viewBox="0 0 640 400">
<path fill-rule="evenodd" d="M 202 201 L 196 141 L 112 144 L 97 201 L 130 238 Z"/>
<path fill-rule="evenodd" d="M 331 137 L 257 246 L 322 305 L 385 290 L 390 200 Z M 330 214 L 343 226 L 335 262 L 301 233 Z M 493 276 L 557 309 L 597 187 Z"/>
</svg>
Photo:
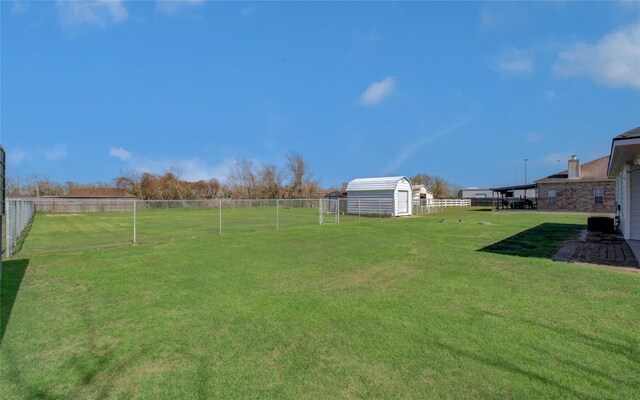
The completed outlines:
<svg viewBox="0 0 640 400">
<path fill-rule="evenodd" d="M 198 199 L 295 199 L 315 198 L 324 190 L 313 174 L 306 159 L 296 151 L 290 151 L 282 166 L 263 164 L 256 166 L 250 159 L 236 160 L 226 179 L 216 178 L 190 182 L 182 179 L 181 171 L 172 168 L 163 174 L 129 171 L 113 179 L 112 184 L 79 185 L 52 182 L 42 175 L 30 175 L 26 179 L 7 180 L 8 197 L 63 196 L 82 186 L 115 187 L 144 200 L 198 200 Z M 425 185 L 435 198 L 455 198 L 460 186 L 448 180 L 428 174 L 411 178 L 414 185 Z M 346 188 L 346 183 L 342 189 Z"/>
</svg>

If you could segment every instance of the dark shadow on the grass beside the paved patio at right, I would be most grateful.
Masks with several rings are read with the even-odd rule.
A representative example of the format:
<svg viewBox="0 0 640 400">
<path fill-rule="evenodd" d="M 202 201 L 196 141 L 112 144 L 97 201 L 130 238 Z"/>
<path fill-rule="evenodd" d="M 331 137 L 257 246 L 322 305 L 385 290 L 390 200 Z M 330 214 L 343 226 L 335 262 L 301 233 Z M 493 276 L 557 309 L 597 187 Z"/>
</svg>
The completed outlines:
<svg viewBox="0 0 640 400">
<path fill-rule="evenodd" d="M 485 246 L 478 251 L 518 257 L 551 258 L 562 243 L 576 237 L 584 225 L 543 223 Z"/>
</svg>

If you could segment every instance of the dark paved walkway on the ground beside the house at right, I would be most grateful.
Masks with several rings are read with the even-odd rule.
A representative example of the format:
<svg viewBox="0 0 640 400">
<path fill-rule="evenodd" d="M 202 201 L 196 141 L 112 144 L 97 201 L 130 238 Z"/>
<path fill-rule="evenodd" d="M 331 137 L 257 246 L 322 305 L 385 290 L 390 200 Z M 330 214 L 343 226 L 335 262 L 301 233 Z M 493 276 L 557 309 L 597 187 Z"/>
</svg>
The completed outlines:
<svg viewBox="0 0 640 400">
<path fill-rule="evenodd" d="M 640 243 L 636 246 L 640 255 Z M 564 245 L 551 257 L 555 261 L 583 262 L 612 267 L 635 268 L 638 258 L 620 235 L 582 231 L 580 238 Z M 640 271 L 640 270 L 638 270 Z"/>
</svg>

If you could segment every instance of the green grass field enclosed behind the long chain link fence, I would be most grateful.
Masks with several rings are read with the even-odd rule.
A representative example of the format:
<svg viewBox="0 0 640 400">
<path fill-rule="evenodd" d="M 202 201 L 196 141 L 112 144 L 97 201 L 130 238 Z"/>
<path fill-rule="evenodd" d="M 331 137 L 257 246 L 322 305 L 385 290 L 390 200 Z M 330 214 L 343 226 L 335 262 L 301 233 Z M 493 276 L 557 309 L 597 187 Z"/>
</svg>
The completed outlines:
<svg viewBox="0 0 640 400">
<path fill-rule="evenodd" d="M 215 208 L 142 210 L 136 214 L 136 243 L 247 233 L 319 224 L 317 208 Z M 277 213 L 277 214 L 276 214 Z M 349 216 L 351 220 L 357 217 Z M 333 218 L 331 218 L 333 220 Z M 26 255 L 89 250 L 133 243 L 133 212 L 38 213 L 21 252 Z"/>
</svg>

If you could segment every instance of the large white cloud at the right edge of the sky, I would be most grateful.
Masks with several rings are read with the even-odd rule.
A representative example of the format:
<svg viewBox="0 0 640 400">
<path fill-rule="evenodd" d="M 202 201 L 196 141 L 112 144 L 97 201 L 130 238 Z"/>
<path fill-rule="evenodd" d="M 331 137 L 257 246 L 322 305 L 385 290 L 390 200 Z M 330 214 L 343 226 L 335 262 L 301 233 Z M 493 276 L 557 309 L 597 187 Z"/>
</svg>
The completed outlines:
<svg viewBox="0 0 640 400">
<path fill-rule="evenodd" d="M 594 44 L 572 45 L 558 55 L 554 72 L 640 90 L 640 23 L 609 33 Z"/>
</svg>

